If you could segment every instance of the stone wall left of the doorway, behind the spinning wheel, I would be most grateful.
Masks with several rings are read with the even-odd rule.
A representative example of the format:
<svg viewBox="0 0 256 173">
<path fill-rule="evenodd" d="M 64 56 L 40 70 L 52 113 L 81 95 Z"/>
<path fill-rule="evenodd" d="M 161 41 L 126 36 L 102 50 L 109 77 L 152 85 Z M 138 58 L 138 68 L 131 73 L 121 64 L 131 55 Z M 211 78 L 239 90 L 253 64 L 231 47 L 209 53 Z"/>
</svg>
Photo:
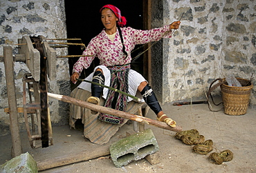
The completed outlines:
<svg viewBox="0 0 256 173">
<path fill-rule="evenodd" d="M 43 35 L 46 38 L 66 38 L 66 17 L 64 1 L 0 1 L 0 55 L 3 55 L 3 46 L 10 45 L 13 54 L 17 54 L 17 39 L 28 34 L 30 36 Z M 66 55 L 66 48 L 57 49 L 57 56 Z M 70 94 L 68 60 L 57 59 L 57 76 L 55 81 L 48 79 L 48 92 L 55 94 Z M 18 107 L 23 106 L 22 77 L 29 72 L 25 63 L 15 62 L 15 86 Z M 6 74 L 3 62 L 0 62 L 0 136 L 10 133 L 9 115 L 3 108 L 8 108 L 6 94 Z M 49 98 L 51 121 L 53 125 L 68 123 L 69 106 Z M 19 128 L 24 131 L 24 115 L 19 114 Z"/>
</svg>

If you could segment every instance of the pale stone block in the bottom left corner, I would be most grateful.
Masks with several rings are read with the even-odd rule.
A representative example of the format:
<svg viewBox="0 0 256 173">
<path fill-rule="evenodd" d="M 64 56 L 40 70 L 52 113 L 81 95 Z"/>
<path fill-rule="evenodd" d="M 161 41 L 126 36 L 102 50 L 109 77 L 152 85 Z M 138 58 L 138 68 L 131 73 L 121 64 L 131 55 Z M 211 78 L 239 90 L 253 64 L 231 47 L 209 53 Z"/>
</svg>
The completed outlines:
<svg viewBox="0 0 256 173">
<path fill-rule="evenodd" d="M 37 162 L 33 157 L 26 152 L 11 159 L 10 161 L 0 165 L 0 172 L 15 172 L 15 173 L 28 173 L 28 172 L 38 172 Z"/>
</svg>

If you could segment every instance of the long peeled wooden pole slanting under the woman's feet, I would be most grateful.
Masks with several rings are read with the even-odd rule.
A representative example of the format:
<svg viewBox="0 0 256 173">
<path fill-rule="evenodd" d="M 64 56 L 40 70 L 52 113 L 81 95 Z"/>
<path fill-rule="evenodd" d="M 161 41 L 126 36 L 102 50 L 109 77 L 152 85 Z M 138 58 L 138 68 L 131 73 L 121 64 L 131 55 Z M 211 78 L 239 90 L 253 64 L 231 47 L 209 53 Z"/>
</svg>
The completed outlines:
<svg viewBox="0 0 256 173">
<path fill-rule="evenodd" d="M 153 120 L 153 119 L 149 119 L 149 118 L 144 117 L 144 116 L 138 116 L 136 114 L 130 114 L 129 112 L 123 112 L 123 111 L 120 111 L 120 110 L 113 110 L 111 108 L 106 108 L 106 107 L 101 106 L 101 105 L 95 105 L 95 104 L 89 103 L 87 101 L 82 101 L 82 100 L 79 100 L 79 99 L 75 99 L 71 96 L 64 96 L 64 95 L 60 95 L 60 94 L 52 94 L 52 93 L 49 93 L 49 92 L 48 92 L 48 96 L 51 96 L 54 99 L 58 99 L 60 101 L 64 101 L 66 103 L 71 103 L 73 105 L 78 105 L 78 106 L 83 107 L 83 108 L 88 108 L 88 109 L 94 110 L 96 112 L 102 112 L 102 113 L 105 113 L 105 114 L 112 114 L 112 115 L 119 116 L 119 117 L 124 118 L 124 119 L 130 119 L 132 121 L 137 121 L 137 122 L 140 122 L 140 123 L 146 123 L 146 124 L 149 124 L 149 125 L 154 125 L 158 128 L 163 128 L 163 129 L 171 130 L 171 131 L 174 131 L 174 132 L 181 132 L 182 131 L 181 126 L 178 126 L 178 125 L 176 125 L 175 128 L 172 128 L 172 127 L 170 127 L 170 125 L 167 125 L 166 123 L 163 123 L 161 121 L 156 121 L 156 120 Z"/>
</svg>

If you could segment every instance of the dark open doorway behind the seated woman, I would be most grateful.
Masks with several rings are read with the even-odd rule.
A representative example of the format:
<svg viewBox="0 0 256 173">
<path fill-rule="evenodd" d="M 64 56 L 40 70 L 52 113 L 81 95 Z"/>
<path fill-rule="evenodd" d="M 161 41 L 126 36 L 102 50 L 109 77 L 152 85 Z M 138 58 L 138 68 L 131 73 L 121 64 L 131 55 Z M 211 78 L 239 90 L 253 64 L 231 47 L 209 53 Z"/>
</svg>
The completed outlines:
<svg viewBox="0 0 256 173">
<path fill-rule="evenodd" d="M 84 43 L 84 45 L 88 45 L 89 41 L 91 41 L 91 39 L 99 34 L 103 29 L 103 25 L 100 20 L 100 8 L 106 4 L 112 4 L 120 9 L 122 16 L 126 17 L 127 19 L 127 26 L 143 30 L 146 26 L 145 17 L 143 14 L 147 14 L 145 13 L 145 10 L 143 10 L 143 2 L 144 4 L 147 3 L 145 0 L 94 0 L 90 1 L 90 3 L 88 3 L 88 1 L 65 0 L 67 37 L 68 39 L 82 39 L 82 43 Z M 74 41 L 72 43 L 74 43 Z M 132 58 L 136 57 L 140 52 L 143 52 L 143 48 L 140 47 L 141 45 L 136 45 L 134 50 L 137 48 L 139 49 L 132 52 Z M 81 50 L 80 46 L 68 47 L 69 55 L 79 55 L 82 54 L 83 51 L 84 50 Z M 131 62 L 131 68 L 140 74 L 143 74 L 143 76 L 147 79 L 147 63 L 143 62 L 143 56 L 145 55 L 141 55 L 140 57 L 134 59 Z M 78 59 L 79 58 L 68 59 L 70 74 L 72 74 L 73 65 Z M 91 66 L 88 69 L 83 70 L 80 78 L 84 79 L 84 77 L 91 74 L 97 65 L 99 65 L 99 60 L 95 58 L 93 63 L 91 63 Z M 73 90 L 73 88 L 75 88 L 78 84 L 78 82 L 76 85 L 71 83 L 71 90 Z"/>
</svg>

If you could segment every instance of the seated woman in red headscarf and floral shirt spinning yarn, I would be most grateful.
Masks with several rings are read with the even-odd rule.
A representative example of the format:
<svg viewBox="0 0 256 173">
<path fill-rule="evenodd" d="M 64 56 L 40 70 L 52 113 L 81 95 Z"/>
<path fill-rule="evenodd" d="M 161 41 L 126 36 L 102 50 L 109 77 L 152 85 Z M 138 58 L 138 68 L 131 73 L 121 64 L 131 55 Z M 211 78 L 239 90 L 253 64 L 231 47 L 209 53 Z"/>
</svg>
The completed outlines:
<svg viewBox="0 0 256 173">
<path fill-rule="evenodd" d="M 174 21 L 169 26 L 152 30 L 135 30 L 134 28 L 125 27 L 126 19 L 121 16 L 120 10 L 115 6 L 103 6 L 100 12 L 104 30 L 94 37 L 84 50 L 83 55 L 89 56 L 80 57 L 75 63 L 71 81 L 75 83 L 83 68 L 89 68 L 94 57 L 97 56 L 100 65 L 86 78 L 87 80 L 111 86 L 134 96 L 138 96 L 137 91 L 139 91 L 141 95 L 138 97 L 143 96 L 149 108 L 156 114 L 158 121 L 163 121 L 175 127 L 176 122 L 164 114 L 152 88 L 141 74 L 130 69 L 130 63 L 131 50 L 134 49 L 136 44 L 170 38 L 172 37 L 172 30 L 178 29 L 181 22 Z M 116 110 L 125 111 L 127 102 L 132 100 L 131 97 L 95 84 L 82 82 L 78 88 L 91 92 L 91 97 L 87 100 L 90 103 L 99 104 L 99 98 L 102 96 L 105 99 L 104 106 Z M 92 113 L 97 114 L 93 111 Z M 98 117 L 98 119 L 107 123 L 123 123 L 122 118 L 109 114 L 100 113 Z"/>
</svg>

